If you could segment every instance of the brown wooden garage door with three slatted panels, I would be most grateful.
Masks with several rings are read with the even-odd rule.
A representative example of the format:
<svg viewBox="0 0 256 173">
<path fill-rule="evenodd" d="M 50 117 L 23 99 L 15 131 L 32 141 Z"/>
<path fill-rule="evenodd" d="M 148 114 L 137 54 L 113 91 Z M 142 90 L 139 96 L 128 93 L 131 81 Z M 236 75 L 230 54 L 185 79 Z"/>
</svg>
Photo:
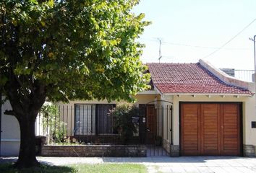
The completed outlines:
<svg viewBox="0 0 256 173">
<path fill-rule="evenodd" d="M 182 103 L 182 155 L 241 155 L 239 109 L 239 103 Z"/>
</svg>

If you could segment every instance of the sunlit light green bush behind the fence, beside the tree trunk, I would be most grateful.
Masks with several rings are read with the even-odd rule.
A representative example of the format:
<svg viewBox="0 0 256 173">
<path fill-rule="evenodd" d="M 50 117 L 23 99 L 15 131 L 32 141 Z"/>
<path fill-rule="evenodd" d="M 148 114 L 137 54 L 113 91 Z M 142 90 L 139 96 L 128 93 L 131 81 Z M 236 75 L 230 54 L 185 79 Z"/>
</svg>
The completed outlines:
<svg viewBox="0 0 256 173">
<path fill-rule="evenodd" d="M 40 110 L 43 123 L 43 134 L 47 143 L 66 143 L 67 124 L 60 120 L 59 110 L 56 105 L 43 105 Z"/>
</svg>

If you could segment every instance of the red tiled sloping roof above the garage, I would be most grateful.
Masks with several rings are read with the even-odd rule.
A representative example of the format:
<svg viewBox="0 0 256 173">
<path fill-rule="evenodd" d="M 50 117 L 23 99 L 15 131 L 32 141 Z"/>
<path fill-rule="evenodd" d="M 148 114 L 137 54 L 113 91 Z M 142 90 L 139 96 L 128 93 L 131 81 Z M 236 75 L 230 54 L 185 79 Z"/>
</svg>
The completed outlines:
<svg viewBox="0 0 256 173">
<path fill-rule="evenodd" d="M 200 63 L 148 63 L 154 86 L 161 93 L 252 94 L 231 86 L 210 73 Z"/>
</svg>

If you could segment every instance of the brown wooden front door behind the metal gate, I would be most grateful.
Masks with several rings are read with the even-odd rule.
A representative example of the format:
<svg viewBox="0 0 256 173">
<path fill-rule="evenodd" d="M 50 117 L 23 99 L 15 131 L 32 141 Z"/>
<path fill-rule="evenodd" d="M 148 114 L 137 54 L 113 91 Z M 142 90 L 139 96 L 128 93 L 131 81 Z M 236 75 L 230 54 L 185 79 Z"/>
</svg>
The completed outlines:
<svg viewBox="0 0 256 173">
<path fill-rule="evenodd" d="M 156 136 L 155 105 L 147 105 L 146 110 L 147 110 L 146 143 L 155 143 L 155 136 Z"/>
</svg>

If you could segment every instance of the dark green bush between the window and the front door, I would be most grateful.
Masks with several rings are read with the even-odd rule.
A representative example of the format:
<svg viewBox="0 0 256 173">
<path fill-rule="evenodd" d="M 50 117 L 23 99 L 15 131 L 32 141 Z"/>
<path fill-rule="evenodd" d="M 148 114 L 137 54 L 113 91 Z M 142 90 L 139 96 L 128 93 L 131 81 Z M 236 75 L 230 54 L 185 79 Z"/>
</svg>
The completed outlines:
<svg viewBox="0 0 256 173">
<path fill-rule="evenodd" d="M 114 119 L 114 131 L 121 135 L 121 141 L 127 143 L 134 133 L 137 133 L 133 117 L 139 116 L 139 108 L 129 105 L 119 105 L 112 112 Z"/>
</svg>

